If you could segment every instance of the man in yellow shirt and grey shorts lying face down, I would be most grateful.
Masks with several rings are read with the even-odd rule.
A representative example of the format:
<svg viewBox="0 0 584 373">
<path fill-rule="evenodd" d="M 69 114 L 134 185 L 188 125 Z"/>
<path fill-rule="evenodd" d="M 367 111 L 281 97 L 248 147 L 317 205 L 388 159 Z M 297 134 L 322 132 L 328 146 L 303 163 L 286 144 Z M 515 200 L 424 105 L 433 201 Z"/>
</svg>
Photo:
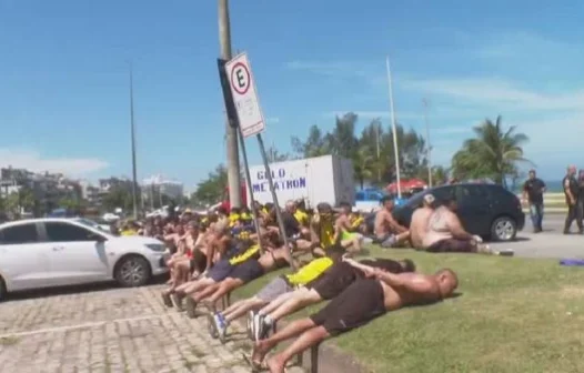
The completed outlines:
<svg viewBox="0 0 584 373">
<path fill-rule="evenodd" d="M 252 298 L 233 303 L 224 311 L 209 315 L 210 331 L 213 330 L 214 334 L 223 340 L 228 326 L 233 321 L 244 316 L 248 312 L 250 312 L 250 320 L 253 320 L 254 310 L 259 310 L 270 302 L 283 303 L 288 299 L 288 294 L 292 294 L 295 289 L 320 278 L 334 263 L 340 262 L 344 253 L 342 246 L 335 245 L 329 250 L 328 256 L 313 260 L 295 273 L 278 276 Z M 250 325 L 248 324 L 248 326 Z"/>
</svg>

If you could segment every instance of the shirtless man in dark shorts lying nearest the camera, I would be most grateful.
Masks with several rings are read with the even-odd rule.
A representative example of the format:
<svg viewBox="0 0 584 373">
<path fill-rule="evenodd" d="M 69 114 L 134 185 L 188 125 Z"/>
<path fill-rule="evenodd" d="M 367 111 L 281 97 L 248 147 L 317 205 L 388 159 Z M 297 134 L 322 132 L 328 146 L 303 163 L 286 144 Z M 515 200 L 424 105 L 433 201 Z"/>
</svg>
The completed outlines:
<svg viewBox="0 0 584 373">
<path fill-rule="evenodd" d="M 296 337 L 290 346 L 265 362 L 271 373 L 283 373 L 293 356 L 325 339 L 360 327 L 389 311 L 442 301 L 453 294 L 457 284 L 456 274 L 447 269 L 433 275 L 393 274 L 375 269 L 367 279 L 354 282 L 319 312 L 293 321 L 270 339 L 256 342 L 251 364 L 261 369 L 272 349 Z"/>
</svg>

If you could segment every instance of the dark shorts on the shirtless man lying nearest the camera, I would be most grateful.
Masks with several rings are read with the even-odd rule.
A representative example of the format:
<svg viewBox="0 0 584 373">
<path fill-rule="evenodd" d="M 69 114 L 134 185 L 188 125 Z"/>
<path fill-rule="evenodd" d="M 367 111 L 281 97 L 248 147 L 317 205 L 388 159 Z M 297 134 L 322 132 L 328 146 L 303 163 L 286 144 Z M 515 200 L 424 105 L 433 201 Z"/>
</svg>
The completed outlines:
<svg viewBox="0 0 584 373">
<path fill-rule="evenodd" d="M 310 320 L 335 336 L 362 326 L 385 312 L 381 283 L 367 279 L 355 281 L 322 310 L 312 314 Z"/>
</svg>

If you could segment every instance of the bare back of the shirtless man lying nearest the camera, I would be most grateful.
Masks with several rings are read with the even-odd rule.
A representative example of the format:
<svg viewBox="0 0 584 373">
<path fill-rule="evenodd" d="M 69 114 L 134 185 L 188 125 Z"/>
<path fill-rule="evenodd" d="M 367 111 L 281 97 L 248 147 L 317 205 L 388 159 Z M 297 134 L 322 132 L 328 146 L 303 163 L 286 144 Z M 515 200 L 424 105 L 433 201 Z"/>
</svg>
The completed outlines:
<svg viewBox="0 0 584 373">
<path fill-rule="evenodd" d="M 442 299 L 440 286 L 433 276 L 420 273 L 401 273 L 407 286 L 390 286 L 380 281 L 383 288 L 385 310 L 395 311 L 407 305 L 434 303 Z"/>
</svg>

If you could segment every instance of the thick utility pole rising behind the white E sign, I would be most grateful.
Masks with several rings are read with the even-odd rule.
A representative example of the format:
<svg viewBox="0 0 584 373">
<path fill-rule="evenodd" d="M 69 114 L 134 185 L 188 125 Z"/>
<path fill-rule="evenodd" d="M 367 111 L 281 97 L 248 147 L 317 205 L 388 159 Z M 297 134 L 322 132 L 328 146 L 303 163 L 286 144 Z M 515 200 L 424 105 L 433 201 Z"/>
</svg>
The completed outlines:
<svg viewBox="0 0 584 373">
<path fill-rule="evenodd" d="M 218 0 L 219 7 L 219 44 L 221 59 L 231 60 L 231 27 L 229 21 L 229 0 Z M 231 206 L 241 208 L 241 173 L 238 147 L 238 129 L 229 119 L 225 122 L 225 145 L 228 150 L 228 185 Z"/>
</svg>

